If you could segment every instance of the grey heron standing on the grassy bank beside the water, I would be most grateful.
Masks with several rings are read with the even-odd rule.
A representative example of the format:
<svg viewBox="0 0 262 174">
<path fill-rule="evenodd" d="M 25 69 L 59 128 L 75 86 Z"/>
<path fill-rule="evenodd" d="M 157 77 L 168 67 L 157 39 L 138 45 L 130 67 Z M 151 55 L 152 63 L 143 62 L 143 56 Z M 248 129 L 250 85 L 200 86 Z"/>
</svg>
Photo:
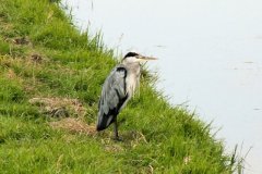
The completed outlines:
<svg viewBox="0 0 262 174">
<path fill-rule="evenodd" d="M 115 138 L 119 140 L 117 115 L 134 95 L 140 83 L 141 62 L 156 60 L 135 52 L 124 55 L 106 78 L 98 103 L 96 129 L 103 130 L 114 123 Z"/>
</svg>

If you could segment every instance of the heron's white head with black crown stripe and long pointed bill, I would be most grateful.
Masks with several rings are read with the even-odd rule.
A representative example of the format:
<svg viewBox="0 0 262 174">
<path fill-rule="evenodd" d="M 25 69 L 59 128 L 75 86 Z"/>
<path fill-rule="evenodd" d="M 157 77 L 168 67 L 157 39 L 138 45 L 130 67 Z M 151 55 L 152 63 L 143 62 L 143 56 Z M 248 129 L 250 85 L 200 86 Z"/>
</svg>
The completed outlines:
<svg viewBox="0 0 262 174">
<path fill-rule="evenodd" d="M 152 57 L 141 55 L 136 52 L 129 52 L 123 57 L 122 63 L 123 64 L 140 63 L 140 62 L 150 61 L 150 60 L 157 60 L 157 59 Z"/>
</svg>

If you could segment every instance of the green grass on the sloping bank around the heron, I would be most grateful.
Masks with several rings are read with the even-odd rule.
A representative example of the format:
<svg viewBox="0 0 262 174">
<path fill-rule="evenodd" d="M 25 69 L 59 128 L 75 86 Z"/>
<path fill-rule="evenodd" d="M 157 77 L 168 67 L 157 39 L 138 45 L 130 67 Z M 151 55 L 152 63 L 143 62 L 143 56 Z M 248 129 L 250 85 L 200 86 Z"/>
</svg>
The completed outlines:
<svg viewBox="0 0 262 174">
<path fill-rule="evenodd" d="M 25 38 L 26 44 L 14 40 Z M 40 55 L 33 60 L 32 55 Z M 0 0 L 1 173 L 233 173 L 210 125 L 171 107 L 144 70 L 140 95 L 120 113 L 123 142 L 111 128 L 86 135 L 53 129 L 59 121 L 29 102 L 35 97 L 78 99 L 93 125 L 102 85 L 116 65 L 100 35 L 90 37 L 49 0 Z"/>
</svg>

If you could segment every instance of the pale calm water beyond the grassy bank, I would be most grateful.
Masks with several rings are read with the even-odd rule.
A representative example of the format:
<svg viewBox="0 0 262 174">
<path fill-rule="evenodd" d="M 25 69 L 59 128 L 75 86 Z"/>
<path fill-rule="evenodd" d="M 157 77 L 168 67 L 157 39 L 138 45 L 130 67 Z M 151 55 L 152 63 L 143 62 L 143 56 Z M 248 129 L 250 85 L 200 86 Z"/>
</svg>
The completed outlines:
<svg viewBox="0 0 262 174">
<path fill-rule="evenodd" d="M 262 173 L 262 1 L 62 0 L 76 26 L 102 29 L 110 48 L 159 58 L 158 89 L 213 122 L 246 173 Z M 118 53 L 119 53 L 118 52 Z"/>
</svg>

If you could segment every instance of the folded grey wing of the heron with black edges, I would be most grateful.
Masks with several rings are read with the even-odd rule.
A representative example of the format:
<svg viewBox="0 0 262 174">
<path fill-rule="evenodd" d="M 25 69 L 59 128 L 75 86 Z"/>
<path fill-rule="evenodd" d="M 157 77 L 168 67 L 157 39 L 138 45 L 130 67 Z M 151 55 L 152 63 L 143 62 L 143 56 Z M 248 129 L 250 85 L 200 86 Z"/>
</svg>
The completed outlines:
<svg viewBox="0 0 262 174">
<path fill-rule="evenodd" d="M 97 129 L 108 127 L 128 99 L 126 92 L 127 69 L 118 65 L 105 80 L 98 105 Z"/>
</svg>

